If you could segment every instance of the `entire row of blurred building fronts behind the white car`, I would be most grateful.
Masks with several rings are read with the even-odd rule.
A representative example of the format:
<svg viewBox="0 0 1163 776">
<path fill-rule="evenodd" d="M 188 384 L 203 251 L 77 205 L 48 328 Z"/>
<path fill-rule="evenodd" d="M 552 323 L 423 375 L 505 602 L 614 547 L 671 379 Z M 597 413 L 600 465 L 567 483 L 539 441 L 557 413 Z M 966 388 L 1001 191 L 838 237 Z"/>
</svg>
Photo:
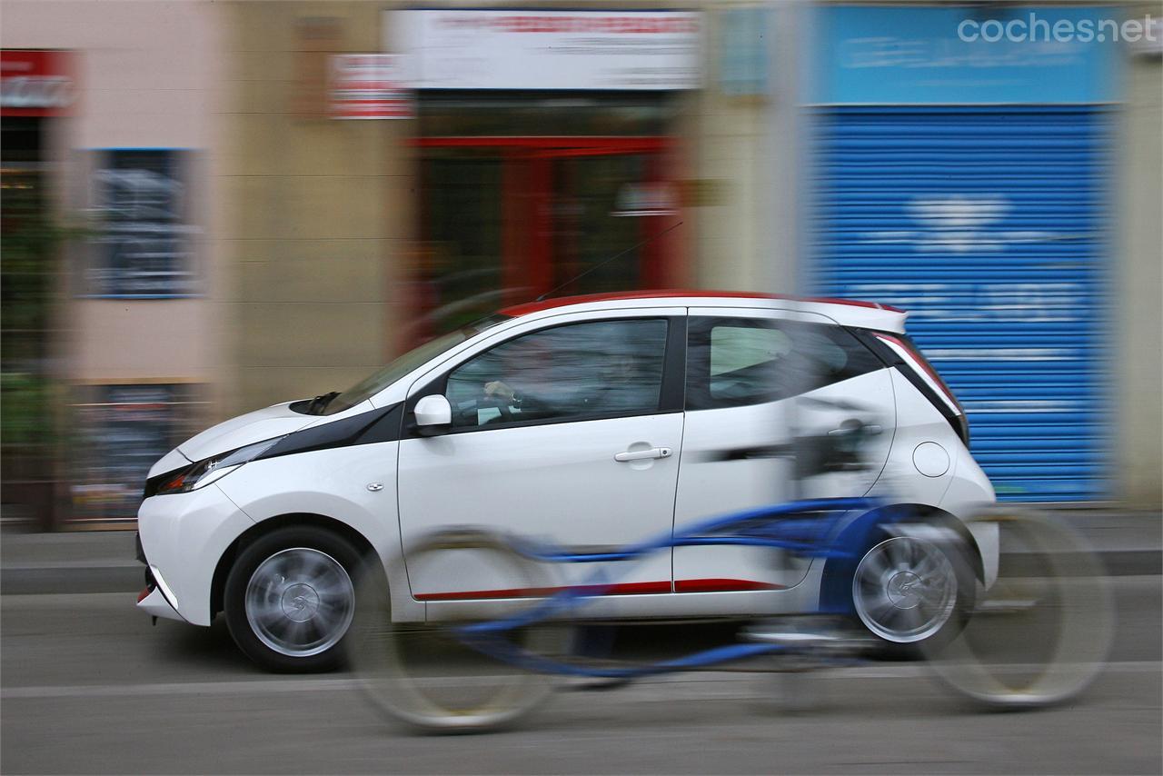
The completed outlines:
<svg viewBox="0 0 1163 776">
<path fill-rule="evenodd" d="M 6 413 L 6 515 L 128 524 L 193 429 L 555 289 L 691 285 L 909 308 L 1004 497 L 1157 507 L 1161 58 L 956 40 L 1032 10 L 1106 13 L 6 3 L 6 268 L 9 186 L 59 227 L 5 320 L 44 414 Z"/>
</svg>

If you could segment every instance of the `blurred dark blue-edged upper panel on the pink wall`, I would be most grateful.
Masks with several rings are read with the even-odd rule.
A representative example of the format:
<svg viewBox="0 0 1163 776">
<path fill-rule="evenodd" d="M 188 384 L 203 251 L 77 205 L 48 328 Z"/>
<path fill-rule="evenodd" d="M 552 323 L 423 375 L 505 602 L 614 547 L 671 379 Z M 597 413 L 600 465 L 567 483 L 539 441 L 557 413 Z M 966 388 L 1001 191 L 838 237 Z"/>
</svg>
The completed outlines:
<svg viewBox="0 0 1163 776">
<path fill-rule="evenodd" d="M 193 151 L 100 149 L 91 152 L 86 297 L 164 299 L 200 291 L 191 192 Z"/>
</svg>

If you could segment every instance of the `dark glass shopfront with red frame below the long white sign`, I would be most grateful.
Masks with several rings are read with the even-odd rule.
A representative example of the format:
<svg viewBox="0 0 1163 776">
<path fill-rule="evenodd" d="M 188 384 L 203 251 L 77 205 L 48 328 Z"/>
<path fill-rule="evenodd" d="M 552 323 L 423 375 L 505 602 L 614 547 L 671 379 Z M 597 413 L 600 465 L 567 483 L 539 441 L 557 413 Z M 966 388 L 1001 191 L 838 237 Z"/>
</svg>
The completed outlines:
<svg viewBox="0 0 1163 776">
<path fill-rule="evenodd" d="M 680 283 L 682 235 L 656 239 L 680 220 L 676 111 L 661 93 L 421 94 L 405 337 L 551 291 Z"/>
</svg>

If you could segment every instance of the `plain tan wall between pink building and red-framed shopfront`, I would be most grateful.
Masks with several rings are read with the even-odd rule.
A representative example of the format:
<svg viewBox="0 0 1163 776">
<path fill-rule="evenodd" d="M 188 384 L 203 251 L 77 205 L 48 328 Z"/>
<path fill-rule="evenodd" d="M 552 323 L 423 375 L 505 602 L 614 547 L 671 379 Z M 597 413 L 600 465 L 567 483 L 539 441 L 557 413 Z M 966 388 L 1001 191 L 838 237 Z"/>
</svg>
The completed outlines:
<svg viewBox="0 0 1163 776">
<path fill-rule="evenodd" d="M 226 408 L 242 412 L 343 390 L 392 355 L 393 277 L 412 223 L 412 122 L 326 113 L 327 57 L 379 51 L 380 5 L 222 10 Z"/>
</svg>

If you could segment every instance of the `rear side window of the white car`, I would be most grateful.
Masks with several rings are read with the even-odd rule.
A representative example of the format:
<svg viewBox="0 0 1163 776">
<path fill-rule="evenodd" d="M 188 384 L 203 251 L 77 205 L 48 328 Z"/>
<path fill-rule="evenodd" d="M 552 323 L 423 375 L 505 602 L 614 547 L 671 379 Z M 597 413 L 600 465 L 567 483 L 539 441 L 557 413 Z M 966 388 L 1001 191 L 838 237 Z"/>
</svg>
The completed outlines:
<svg viewBox="0 0 1163 776">
<path fill-rule="evenodd" d="M 686 408 L 776 401 L 882 366 L 839 326 L 697 316 L 688 329 Z"/>
</svg>

